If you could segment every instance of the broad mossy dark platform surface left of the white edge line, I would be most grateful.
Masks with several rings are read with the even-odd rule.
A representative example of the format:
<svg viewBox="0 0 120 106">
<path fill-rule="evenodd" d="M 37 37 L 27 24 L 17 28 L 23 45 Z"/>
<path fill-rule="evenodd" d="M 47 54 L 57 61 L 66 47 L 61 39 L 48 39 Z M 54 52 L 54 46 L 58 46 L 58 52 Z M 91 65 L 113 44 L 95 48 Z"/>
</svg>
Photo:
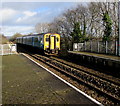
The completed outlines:
<svg viewBox="0 0 120 106">
<path fill-rule="evenodd" d="M 2 57 L 2 104 L 96 105 L 23 55 Z"/>
</svg>

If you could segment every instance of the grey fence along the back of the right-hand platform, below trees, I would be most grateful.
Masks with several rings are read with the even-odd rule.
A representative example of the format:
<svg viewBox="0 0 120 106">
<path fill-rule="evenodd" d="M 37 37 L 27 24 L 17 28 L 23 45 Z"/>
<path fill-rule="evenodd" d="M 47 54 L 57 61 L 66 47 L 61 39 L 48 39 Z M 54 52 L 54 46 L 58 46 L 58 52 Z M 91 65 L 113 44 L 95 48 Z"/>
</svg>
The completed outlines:
<svg viewBox="0 0 120 106">
<path fill-rule="evenodd" d="M 118 55 L 118 42 L 90 41 L 85 43 L 74 43 L 73 51 L 86 51 L 86 52 Z"/>
</svg>

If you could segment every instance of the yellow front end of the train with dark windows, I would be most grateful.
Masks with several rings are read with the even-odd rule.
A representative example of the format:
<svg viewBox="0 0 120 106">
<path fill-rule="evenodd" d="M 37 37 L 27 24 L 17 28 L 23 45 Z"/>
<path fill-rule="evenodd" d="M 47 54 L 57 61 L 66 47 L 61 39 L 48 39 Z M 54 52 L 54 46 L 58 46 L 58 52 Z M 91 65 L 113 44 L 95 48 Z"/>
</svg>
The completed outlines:
<svg viewBox="0 0 120 106">
<path fill-rule="evenodd" d="M 47 54 L 58 54 L 60 51 L 60 35 L 45 34 L 44 35 L 44 51 Z"/>
</svg>

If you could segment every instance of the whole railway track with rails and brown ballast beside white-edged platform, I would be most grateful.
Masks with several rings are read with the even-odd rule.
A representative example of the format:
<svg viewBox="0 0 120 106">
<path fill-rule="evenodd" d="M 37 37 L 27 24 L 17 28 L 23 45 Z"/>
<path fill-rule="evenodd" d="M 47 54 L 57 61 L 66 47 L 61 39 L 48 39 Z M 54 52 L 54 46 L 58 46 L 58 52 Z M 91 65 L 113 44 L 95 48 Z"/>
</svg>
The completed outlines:
<svg viewBox="0 0 120 106">
<path fill-rule="evenodd" d="M 109 98 L 113 103 L 120 104 L 120 83 L 105 78 L 105 76 L 97 75 L 93 72 L 88 72 L 86 69 L 81 69 L 75 65 L 55 57 L 46 57 L 38 54 L 30 54 L 34 59 L 40 60 L 52 68 L 55 68 L 66 76 L 84 83 L 91 89 L 96 90 L 101 95 Z"/>
</svg>

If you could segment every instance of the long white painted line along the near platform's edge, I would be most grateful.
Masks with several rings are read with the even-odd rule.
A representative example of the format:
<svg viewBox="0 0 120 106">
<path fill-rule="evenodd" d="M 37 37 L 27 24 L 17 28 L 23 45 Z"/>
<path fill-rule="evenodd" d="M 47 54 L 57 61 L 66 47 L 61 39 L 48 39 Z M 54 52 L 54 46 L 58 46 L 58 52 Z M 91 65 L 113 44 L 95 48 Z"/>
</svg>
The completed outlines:
<svg viewBox="0 0 120 106">
<path fill-rule="evenodd" d="M 59 77 L 58 75 L 54 74 L 53 72 L 51 72 L 49 69 L 45 68 L 44 66 L 42 66 L 41 64 L 39 64 L 38 62 L 34 61 L 33 59 L 31 59 L 29 56 L 27 56 L 24 53 L 23 54 L 25 57 L 27 57 L 28 59 L 30 59 L 32 62 L 36 63 L 38 66 L 42 67 L 43 69 L 45 69 L 46 71 L 48 71 L 49 73 L 51 73 L 52 75 L 54 75 L 55 77 L 57 77 L 58 79 L 60 79 L 61 81 L 63 81 L 64 83 L 66 83 L 67 85 L 69 85 L 70 87 L 72 87 L 73 89 L 75 89 L 76 91 L 78 91 L 79 93 L 81 93 L 82 95 L 86 96 L 88 99 L 90 99 L 91 101 L 93 101 L 94 103 L 103 106 L 103 104 L 101 104 L 100 102 L 98 102 L 97 100 L 93 99 L 92 97 L 90 97 L 89 95 L 87 95 L 86 93 L 84 93 L 83 91 L 79 90 L 78 88 L 76 88 L 75 86 L 73 86 L 72 84 L 70 84 L 69 82 L 65 81 L 64 79 L 62 79 L 61 77 Z"/>
</svg>

